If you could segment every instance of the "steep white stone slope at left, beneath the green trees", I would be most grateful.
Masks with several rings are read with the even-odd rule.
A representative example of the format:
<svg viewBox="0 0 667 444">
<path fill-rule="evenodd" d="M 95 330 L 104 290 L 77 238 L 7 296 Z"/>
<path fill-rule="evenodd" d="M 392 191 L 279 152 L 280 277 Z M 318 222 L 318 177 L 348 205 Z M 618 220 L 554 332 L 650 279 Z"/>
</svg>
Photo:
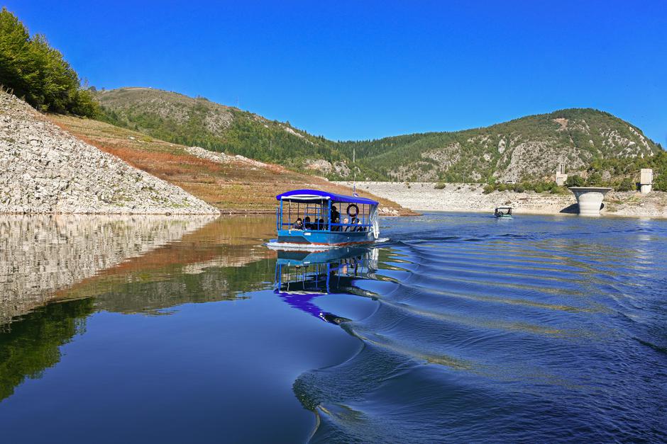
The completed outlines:
<svg viewBox="0 0 667 444">
<path fill-rule="evenodd" d="M 0 213 L 219 214 L 0 91 Z"/>
</svg>

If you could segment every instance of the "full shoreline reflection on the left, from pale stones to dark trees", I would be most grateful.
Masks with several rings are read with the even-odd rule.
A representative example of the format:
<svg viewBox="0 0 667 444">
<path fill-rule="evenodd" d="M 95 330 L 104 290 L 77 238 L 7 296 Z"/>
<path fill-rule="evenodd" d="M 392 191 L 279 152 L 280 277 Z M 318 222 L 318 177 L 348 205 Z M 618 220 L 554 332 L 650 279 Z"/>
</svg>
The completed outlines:
<svg viewBox="0 0 667 444">
<path fill-rule="evenodd" d="M 203 227 L 198 222 L 199 229 L 192 229 L 198 228 L 195 222 L 144 217 L 116 224 L 32 219 L 3 225 L 23 231 L 12 240 L 21 251 L 10 257 L 4 250 L 2 256 L 3 267 L 16 263 L 19 273 L 1 283 L 15 292 L 7 304 L 11 310 L 3 305 L 0 313 L 3 319 L 21 317 L 0 331 L 0 400 L 26 377 L 40 377 L 57 364 L 60 347 L 85 331 L 96 310 L 157 313 L 189 302 L 233 300 L 240 292 L 270 287 L 275 271 L 275 253 L 258 241 L 272 229 L 265 218 L 222 217 L 204 220 Z M 123 261 L 132 252 L 140 256 Z M 27 264 L 38 263 L 43 266 L 28 270 Z M 53 300 L 60 302 L 46 304 Z"/>
</svg>

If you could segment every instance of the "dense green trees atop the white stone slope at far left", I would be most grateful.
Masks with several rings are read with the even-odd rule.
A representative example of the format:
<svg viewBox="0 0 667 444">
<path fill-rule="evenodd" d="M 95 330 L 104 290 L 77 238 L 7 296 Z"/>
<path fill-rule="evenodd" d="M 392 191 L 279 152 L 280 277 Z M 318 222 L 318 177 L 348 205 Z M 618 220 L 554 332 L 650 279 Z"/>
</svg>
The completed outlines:
<svg viewBox="0 0 667 444">
<path fill-rule="evenodd" d="M 6 8 L 0 11 L 0 84 L 42 111 L 94 117 L 97 103 L 43 35 L 31 38 Z"/>
</svg>

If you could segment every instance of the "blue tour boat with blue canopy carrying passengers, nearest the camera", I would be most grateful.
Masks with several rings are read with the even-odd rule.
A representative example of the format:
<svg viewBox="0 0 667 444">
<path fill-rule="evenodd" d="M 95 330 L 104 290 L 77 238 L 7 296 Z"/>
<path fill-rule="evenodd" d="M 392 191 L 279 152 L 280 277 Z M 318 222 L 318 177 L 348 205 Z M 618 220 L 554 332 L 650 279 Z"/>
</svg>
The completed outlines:
<svg viewBox="0 0 667 444">
<path fill-rule="evenodd" d="M 271 244 L 308 248 L 368 244 L 380 235 L 375 200 L 320 190 L 292 190 L 275 198 L 277 239 Z"/>
</svg>

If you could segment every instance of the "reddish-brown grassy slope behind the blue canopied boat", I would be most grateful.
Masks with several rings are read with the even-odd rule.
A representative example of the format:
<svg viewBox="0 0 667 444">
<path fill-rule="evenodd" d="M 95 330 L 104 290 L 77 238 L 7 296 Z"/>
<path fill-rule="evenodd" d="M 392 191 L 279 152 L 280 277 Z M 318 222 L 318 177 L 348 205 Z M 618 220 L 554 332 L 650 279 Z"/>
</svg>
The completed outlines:
<svg viewBox="0 0 667 444">
<path fill-rule="evenodd" d="M 180 186 L 224 212 L 273 212 L 275 195 L 296 188 L 319 188 L 351 194 L 350 188 L 290 171 L 282 166 L 261 168 L 241 161 L 217 164 L 188 154 L 182 145 L 157 140 L 108 123 L 65 115 L 48 117 L 72 135 L 120 157 L 128 164 Z M 382 207 L 398 210 L 404 215 L 412 214 L 390 200 L 368 193 L 361 195 L 379 200 Z"/>
</svg>

